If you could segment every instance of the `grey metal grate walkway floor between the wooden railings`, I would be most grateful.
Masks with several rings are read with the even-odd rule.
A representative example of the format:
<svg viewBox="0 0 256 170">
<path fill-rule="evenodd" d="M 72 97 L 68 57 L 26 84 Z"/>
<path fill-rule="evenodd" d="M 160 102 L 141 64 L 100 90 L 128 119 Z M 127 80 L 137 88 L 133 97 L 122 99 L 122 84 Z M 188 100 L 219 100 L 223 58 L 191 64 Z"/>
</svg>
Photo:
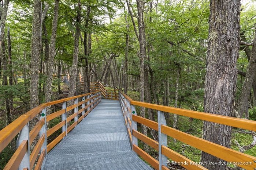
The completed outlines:
<svg viewBox="0 0 256 170">
<path fill-rule="evenodd" d="M 119 101 L 101 100 L 52 151 L 43 170 L 152 170 L 131 151 Z"/>
</svg>

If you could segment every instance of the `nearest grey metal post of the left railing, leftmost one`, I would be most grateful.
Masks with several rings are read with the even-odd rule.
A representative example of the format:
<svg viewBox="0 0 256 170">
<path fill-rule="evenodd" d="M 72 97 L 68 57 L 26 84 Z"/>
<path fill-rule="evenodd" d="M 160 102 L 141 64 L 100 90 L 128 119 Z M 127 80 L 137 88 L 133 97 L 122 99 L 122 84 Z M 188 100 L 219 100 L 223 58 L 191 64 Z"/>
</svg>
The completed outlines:
<svg viewBox="0 0 256 170">
<path fill-rule="evenodd" d="M 22 130 L 19 132 L 18 138 L 17 138 L 17 148 L 20 146 L 20 144 L 27 140 L 27 151 L 21 161 L 21 164 L 19 165 L 18 170 L 22 170 L 23 168 L 29 168 L 30 169 L 30 163 L 29 163 L 29 156 L 30 156 L 30 144 L 29 144 L 29 122 L 22 128 Z"/>
</svg>

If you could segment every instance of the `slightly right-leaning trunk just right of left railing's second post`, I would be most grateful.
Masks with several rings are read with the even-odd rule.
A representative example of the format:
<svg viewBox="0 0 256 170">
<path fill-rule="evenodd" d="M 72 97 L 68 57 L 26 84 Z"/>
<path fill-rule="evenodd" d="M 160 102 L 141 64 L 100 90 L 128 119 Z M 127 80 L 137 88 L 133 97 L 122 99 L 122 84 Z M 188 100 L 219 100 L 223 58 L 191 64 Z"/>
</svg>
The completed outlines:
<svg viewBox="0 0 256 170">
<path fill-rule="evenodd" d="M 52 97 L 52 79 L 53 79 L 53 60 L 55 57 L 55 44 L 56 44 L 56 34 L 57 34 L 57 22 L 59 12 L 59 0 L 55 0 L 53 19 L 52 19 L 52 35 L 49 48 L 49 59 L 47 64 L 47 81 L 45 89 L 45 102 L 50 102 Z M 50 113 L 49 108 L 47 109 L 47 114 Z"/>
</svg>

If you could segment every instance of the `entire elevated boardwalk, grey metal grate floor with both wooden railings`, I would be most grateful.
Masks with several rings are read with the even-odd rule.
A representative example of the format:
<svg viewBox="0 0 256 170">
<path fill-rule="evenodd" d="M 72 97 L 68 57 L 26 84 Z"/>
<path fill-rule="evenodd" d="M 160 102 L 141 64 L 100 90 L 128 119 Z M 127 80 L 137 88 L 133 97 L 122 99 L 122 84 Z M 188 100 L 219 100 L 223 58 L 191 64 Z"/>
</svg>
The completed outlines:
<svg viewBox="0 0 256 170">
<path fill-rule="evenodd" d="M 256 157 L 171 128 L 166 124 L 164 112 L 249 131 L 256 131 L 256 121 L 134 101 L 120 90 L 106 90 L 100 82 L 92 83 L 91 89 L 94 92 L 40 104 L 3 128 L 0 153 L 19 134 L 17 149 L 3 170 L 152 169 L 140 157 L 156 170 L 169 170 L 168 159 L 181 162 L 188 170 L 206 170 L 171 150 L 167 145 L 168 136 L 227 162 L 240 163 L 237 165 L 246 170 L 256 169 Z M 110 100 L 101 100 L 102 97 Z M 68 101 L 73 104 L 68 106 Z M 62 108 L 45 114 L 47 107 L 55 105 L 62 105 Z M 155 120 L 137 115 L 136 107 L 155 110 Z M 73 114 L 67 117 L 69 111 Z M 29 121 L 34 121 L 36 116 L 40 117 L 39 121 L 30 126 Z M 52 121 L 57 124 L 48 127 L 47 123 Z M 158 139 L 138 131 L 138 124 L 158 131 Z M 59 136 L 51 136 L 60 130 Z M 40 138 L 36 139 L 38 135 Z M 50 138 L 53 140 L 47 142 Z M 142 150 L 138 140 L 154 148 L 158 159 Z M 36 146 L 32 148 L 33 141 Z"/>
</svg>

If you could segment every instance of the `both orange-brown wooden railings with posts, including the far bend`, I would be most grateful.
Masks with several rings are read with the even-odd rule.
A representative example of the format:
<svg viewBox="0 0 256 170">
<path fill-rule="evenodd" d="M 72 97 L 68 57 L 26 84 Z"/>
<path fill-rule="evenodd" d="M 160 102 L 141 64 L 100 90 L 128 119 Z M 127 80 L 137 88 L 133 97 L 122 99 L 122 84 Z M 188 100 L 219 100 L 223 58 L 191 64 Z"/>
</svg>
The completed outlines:
<svg viewBox="0 0 256 170">
<path fill-rule="evenodd" d="M 200 163 L 193 162 L 183 155 L 168 148 L 167 136 L 171 136 L 172 138 L 180 140 L 190 146 L 214 155 L 227 162 L 241 163 L 241 165 L 237 166 L 247 170 L 256 169 L 256 158 L 253 156 L 220 146 L 218 144 L 168 127 L 166 125 L 163 112 L 225 124 L 250 131 L 256 131 L 256 121 L 138 102 L 132 100 L 120 90 L 118 93 L 115 92 L 115 90 L 106 90 L 100 83 L 93 84 L 92 88 L 93 90 L 97 91 L 41 104 L 24 115 L 18 117 L 10 125 L 1 130 L 0 152 L 3 151 L 3 149 L 12 141 L 12 139 L 15 138 L 17 134 L 19 134 L 17 139 L 17 150 L 15 151 L 14 155 L 12 155 L 12 158 L 4 169 L 7 170 L 19 168 L 30 170 L 34 166 L 34 162 L 36 161 L 37 157 L 39 157 L 39 159 L 35 169 L 40 169 L 47 153 L 57 143 L 59 143 L 60 140 L 62 140 L 68 134 L 68 132 L 75 127 L 75 125 L 84 119 L 84 117 L 88 115 L 88 113 L 92 111 L 97 104 L 99 104 L 101 101 L 101 95 L 107 99 L 120 101 L 132 150 L 140 155 L 145 161 L 150 163 L 155 169 L 168 170 L 167 158 L 171 159 L 172 161 L 182 163 L 182 166 L 186 169 L 205 169 L 200 165 Z M 116 99 L 117 97 L 118 99 Z M 67 107 L 67 101 L 69 100 L 74 100 L 74 104 Z M 62 104 L 62 109 L 50 115 L 46 115 L 46 108 L 56 104 Z M 135 106 L 156 110 L 158 112 L 158 122 L 138 116 Z M 67 112 L 73 113 L 67 117 Z M 30 131 L 29 121 L 36 116 L 39 117 L 39 121 Z M 47 122 L 57 119 L 57 117 L 59 117 L 59 119 L 61 117 L 61 121 L 59 121 L 59 123 L 57 123 L 54 127 L 47 128 Z M 138 123 L 144 124 L 147 127 L 158 131 L 159 140 L 155 141 L 148 136 L 141 134 L 137 130 Z M 68 124 L 70 124 L 70 126 L 67 126 Z M 59 133 L 59 135 L 53 139 L 52 142 L 47 144 L 47 138 L 60 129 L 62 129 L 62 131 Z M 30 154 L 30 146 L 34 139 L 36 139 L 37 135 L 39 135 L 39 139 L 36 140 L 36 146 L 34 146 L 33 151 Z M 138 147 L 138 139 L 158 151 L 159 160 L 151 157 L 151 155 Z"/>
</svg>

